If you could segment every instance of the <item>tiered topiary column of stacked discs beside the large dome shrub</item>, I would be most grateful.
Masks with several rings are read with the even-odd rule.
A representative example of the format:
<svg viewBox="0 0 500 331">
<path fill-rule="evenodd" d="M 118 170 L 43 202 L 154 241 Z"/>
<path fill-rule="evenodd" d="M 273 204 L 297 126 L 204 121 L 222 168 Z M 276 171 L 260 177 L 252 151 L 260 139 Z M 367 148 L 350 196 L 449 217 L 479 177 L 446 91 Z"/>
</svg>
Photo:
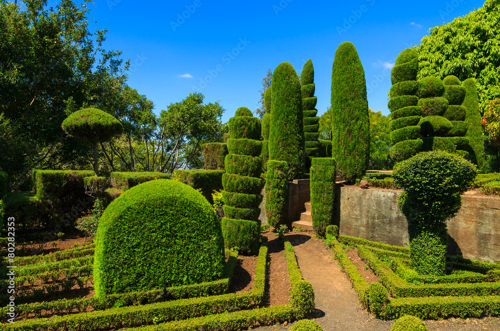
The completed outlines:
<svg viewBox="0 0 500 331">
<path fill-rule="evenodd" d="M 229 119 L 229 134 L 222 177 L 224 216 L 222 234 L 226 247 L 238 247 L 243 253 L 257 253 L 260 221 L 258 205 L 262 200 L 260 190 L 263 179 L 262 141 L 260 120 L 253 117 L 250 109 L 239 107 Z"/>
</svg>

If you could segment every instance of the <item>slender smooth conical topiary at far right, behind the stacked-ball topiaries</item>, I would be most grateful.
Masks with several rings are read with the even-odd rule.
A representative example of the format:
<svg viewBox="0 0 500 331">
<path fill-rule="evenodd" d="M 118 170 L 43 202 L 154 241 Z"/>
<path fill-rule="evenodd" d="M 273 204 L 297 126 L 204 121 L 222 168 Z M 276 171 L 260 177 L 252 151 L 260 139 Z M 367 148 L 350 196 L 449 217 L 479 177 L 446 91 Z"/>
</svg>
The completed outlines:
<svg viewBox="0 0 500 331">
<path fill-rule="evenodd" d="M 465 121 L 469 124 L 465 134 L 470 143 L 469 160 L 476 164 L 477 168 L 481 169 L 484 162 L 484 135 L 481 127 L 481 113 L 475 79 L 465 79 L 462 86 L 465 87 L 465 98 L 462 106 L 465 106 Z"/>
</svg>

